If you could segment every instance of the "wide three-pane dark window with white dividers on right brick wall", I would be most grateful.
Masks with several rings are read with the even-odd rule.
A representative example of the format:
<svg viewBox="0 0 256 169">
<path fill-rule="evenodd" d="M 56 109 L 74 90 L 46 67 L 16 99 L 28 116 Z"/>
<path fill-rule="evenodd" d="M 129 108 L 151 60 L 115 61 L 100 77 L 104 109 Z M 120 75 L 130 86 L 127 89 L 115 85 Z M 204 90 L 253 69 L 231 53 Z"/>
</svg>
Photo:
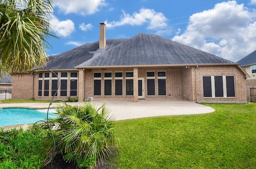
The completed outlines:
<svg viewBox="0 0 256 169">
<path fill-rule="evenodd" d="M 234 76 L 203 77 L 204 97 L 235 97 Z"/>
</svg>

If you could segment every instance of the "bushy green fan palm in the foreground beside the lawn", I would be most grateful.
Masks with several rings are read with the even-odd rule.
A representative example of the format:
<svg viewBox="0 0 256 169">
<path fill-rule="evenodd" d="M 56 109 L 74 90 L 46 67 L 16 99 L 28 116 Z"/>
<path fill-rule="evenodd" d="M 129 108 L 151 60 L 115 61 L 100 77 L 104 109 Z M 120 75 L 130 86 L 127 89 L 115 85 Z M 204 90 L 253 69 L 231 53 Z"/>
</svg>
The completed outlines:
<svg viewBox="0 0 256 169">
<path fill-rule="evenodd" d="M 57 124 L 57 150 L 68 162 L 75 161 L 79 167 L 88 167 L 102 162 L 114 146 L 113 128 L 115 121 L 109 115 L 104 103 L 97 108 L 94 102 L 56 108 L 57 118 L 50 123 Z"/>
</svg>

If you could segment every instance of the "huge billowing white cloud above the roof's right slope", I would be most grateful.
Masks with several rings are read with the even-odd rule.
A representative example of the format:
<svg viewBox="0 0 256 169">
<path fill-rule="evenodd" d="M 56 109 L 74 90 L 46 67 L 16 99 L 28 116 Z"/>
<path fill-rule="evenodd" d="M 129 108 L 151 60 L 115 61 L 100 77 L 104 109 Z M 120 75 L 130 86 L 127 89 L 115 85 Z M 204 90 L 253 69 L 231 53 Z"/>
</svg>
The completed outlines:
<svg viewBox="0 0 256 169">
<path fill-rule="evenodd" d="M 249 12 L 244 4 L 222 2 L 190 16 L 186 31 L 173 40 L 238 61 L 255 50 L 255 16 L 255 11 Z"/>
</svg>

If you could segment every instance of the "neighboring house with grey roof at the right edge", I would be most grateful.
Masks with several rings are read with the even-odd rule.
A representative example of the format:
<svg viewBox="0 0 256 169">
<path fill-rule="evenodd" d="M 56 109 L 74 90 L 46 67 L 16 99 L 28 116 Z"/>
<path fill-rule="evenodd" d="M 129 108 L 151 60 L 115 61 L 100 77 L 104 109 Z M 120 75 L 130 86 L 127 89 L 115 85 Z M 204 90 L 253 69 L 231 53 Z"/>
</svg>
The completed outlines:
<svg viewBox="0 0 256 169">
<path fill-rule="evenodd" d="M 237 63 L 250 76 L 246 79 L 247 101 L 256 102 L 256 51 L 242 58 Z"/>
</svg>

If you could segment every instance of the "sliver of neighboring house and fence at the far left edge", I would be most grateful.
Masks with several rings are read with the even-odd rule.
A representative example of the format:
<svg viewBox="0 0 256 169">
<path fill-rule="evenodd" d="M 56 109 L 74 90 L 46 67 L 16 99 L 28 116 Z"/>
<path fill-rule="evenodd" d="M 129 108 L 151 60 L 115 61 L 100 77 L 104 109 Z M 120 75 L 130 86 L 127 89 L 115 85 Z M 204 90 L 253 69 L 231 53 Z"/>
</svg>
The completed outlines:
<svg viewBox="0 0 256 169">
<path fill-rule="evenodd" d="M 0 77 L 0 100 L 12 98 L 12 76 Z"/>
</svg>

